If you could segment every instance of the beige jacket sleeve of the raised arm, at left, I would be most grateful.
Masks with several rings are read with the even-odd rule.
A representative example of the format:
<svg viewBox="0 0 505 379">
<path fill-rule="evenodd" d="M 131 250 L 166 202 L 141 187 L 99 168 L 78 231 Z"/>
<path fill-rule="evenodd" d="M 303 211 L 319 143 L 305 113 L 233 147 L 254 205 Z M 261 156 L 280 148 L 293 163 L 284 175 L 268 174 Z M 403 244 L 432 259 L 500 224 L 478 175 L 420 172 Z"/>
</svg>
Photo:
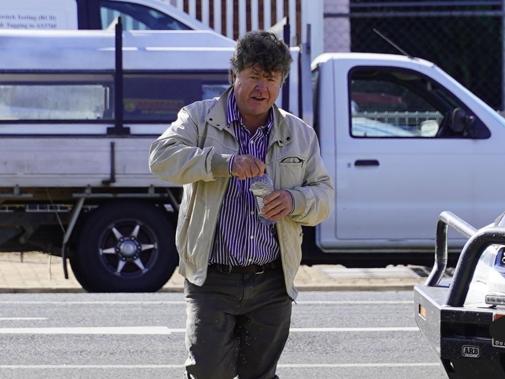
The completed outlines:
<svg viewBox="0 0 505 379">
<path fill-rule="evenodd" d="M 151 144 L 151 173 L 174 184 L 209 182 L 230 176 L 231 155 L 216 153 L 214 146 L 198 147 L 198 139 L 204 136 L 199 135 L 197 122 L 188 107 L 179 112 L 177 120 Z M 205 125 L 205 120 L 201 123 Z"/>
</svg>

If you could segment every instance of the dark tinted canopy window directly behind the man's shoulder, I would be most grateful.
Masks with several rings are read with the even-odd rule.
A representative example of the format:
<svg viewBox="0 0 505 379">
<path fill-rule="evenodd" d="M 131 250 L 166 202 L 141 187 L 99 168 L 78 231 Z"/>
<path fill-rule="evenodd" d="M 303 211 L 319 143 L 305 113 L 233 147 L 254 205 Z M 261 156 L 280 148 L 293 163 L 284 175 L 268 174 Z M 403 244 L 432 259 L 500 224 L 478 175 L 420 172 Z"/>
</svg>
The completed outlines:
<svg viewBox="0 0 505 379">
<path fill-rule="evenodd" d="M 184 105 L 219 96 L 228 87 L 225 73 L 126 73 L 124 120 L 172 122 Z"/>
</svg>

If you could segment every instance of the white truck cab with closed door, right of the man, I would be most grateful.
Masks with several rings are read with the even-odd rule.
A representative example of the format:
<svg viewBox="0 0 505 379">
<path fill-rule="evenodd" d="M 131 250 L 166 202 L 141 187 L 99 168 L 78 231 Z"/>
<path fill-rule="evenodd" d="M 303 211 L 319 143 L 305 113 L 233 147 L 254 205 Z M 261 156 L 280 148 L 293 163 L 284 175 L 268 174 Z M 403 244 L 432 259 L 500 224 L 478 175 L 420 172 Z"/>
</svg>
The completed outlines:
<svg viewBox="0 0 505 379">
<path fill-rule="evenodd" d="M 325 53 L 312 71 L 314 126 L 336 183 L 335 214 L 318 231 L 326 256 L 413 263 L 432 255 L 444 209 L 483 226 L 505 206 L 492 169 L 503 159 L 505 120 L 440 68 Z M 451 248 L 463 243 L 451 239 Z"/>
</svg>

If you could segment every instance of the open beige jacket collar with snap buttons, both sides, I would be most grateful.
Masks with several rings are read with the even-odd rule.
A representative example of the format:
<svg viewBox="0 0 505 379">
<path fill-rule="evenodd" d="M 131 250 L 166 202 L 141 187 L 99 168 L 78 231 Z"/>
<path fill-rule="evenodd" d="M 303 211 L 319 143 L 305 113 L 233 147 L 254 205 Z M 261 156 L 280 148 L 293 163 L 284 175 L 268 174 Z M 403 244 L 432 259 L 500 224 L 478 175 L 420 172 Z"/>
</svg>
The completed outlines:
<svg viewBox="0 0 505 379">
<path fill-rule="evenodd" d="M 221 94 L 205 118 L 205 121 L 219 130 L 226 129 L 234 135 L 233 128 L 229 128 L 227 125 L 226 116 L 228 111 L 228 99 L 232 88 L 233 87 L 230 86 Z M 272 107 L 274 109 L 274 125 L 272 125 L 272 129 L 270 129 L 268 149 L 270 149 L 274 142 L 277 142 L 280 146 L 284 146 L 289 144 L 293 139 L 291 128 L 288 126 L 281 110 L 275 104 L 273 104 Z"/>
</svg>

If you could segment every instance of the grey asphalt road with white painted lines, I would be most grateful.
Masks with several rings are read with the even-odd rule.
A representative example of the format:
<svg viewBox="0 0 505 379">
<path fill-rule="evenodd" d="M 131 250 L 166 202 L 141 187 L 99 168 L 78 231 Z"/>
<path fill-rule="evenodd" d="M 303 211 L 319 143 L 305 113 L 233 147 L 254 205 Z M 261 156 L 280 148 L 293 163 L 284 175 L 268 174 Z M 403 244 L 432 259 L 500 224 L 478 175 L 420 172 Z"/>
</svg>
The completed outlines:
<svg viewBox="0 0 505 379">
<path fill-rule="evenodd" d="M 413 312 L 410 291 L 302 292 L 278 374 L 446 378 Z M 0 295 L 0 378 L 181 378 L 184 326 L 180 293 Z"/>
</svg>

